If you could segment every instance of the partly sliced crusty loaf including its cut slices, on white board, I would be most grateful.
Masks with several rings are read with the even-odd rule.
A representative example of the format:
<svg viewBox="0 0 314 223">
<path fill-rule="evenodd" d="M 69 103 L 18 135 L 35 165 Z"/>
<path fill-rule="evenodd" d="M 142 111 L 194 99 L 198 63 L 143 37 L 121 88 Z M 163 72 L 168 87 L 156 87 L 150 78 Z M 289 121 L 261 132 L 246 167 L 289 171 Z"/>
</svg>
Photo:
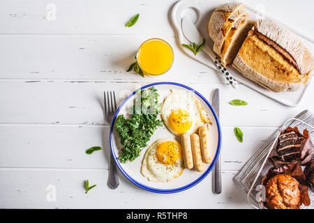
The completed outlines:
<svg viewBox="0 0 314 223">
<path fill-rule="evenodd" d="M 234 29 L 241 29 L 241 22 L 248 20 L 244 7 L 241 3 L 223 4 L 216 8 L 209 20 L 214 52 L 225 66 L 234 58 L 234 51 L 239 49 L 235 47 L 237 43 L 233 45 L 232 38 L 239 35 Z M 296 34 L 271 20 L 257 20 L 251 32 L 258 38 L 250 43 L 252 47 L 246 45 L 242 53 L 241 47 L 232 64 L 244 77 L 275 92 L 297 91 L 311 80 L 314 57 Z"/>
</svg>

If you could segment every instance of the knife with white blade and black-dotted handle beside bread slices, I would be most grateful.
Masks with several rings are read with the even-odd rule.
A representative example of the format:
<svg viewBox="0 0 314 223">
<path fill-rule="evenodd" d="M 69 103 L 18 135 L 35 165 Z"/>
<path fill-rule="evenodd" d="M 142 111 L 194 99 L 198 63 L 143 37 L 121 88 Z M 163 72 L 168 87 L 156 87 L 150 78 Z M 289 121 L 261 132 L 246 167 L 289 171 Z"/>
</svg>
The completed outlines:
<svg viewBox="0 0 314 223">
<path fill-rule="evenodd" d="M 191 22 L 186 16 L 183 17 L 181 20 L 181 29 L 186 40 L 188 40 L 192 44 L 196 43 L 197 45 L 200 45 L 202 41 L 204 40 L 200 32 L 197 30 L 197 28 L 193 24 L 193 22 Z M 238 84 L 235 81 L 234 77 L 231 75 L 229 70 L 227 70 L 227 68 L 223 66 L 220 59 L 218 59 L 218 56 L 214 53 L 214 51 L 211 50 L 211 47 L 209 47 L 209 45 L 207 45 L 206 42 L 202 50 L 211 57 L 211 59 L 216 64 L 216 67 L 218 68 L 217 70 L 219 70 L 220 73 L 222 73 L 225 76 L 225 80 L 227 80 L 227 82 L 231 84 L 231 86 L 233 86 L 234 88 L 237 88 Z"/>
</svg>

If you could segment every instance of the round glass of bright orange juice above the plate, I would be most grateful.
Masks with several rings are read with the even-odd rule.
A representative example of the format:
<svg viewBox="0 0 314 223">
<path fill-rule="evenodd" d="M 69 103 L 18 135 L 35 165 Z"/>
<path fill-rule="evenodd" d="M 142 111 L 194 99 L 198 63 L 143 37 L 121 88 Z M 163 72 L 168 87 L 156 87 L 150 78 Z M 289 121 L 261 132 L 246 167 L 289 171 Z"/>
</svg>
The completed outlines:
<svg viewBox="0 0 314 223">
<path fill-rule="evenodd" d="M 145 75 L 162 75 L 171 68 L 174 54 L 165 40 L 151 38 L 140 45 L 136 58 Z"/>
</svg>

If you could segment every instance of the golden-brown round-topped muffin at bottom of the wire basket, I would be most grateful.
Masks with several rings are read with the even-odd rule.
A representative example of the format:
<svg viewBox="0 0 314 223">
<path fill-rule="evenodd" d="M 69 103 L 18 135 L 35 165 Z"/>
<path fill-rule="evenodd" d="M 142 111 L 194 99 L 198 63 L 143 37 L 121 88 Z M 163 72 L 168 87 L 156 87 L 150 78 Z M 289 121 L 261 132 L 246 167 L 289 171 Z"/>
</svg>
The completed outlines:
<svg viewBox="0 0 314 223">
<path fill-rule="evenodd" d="M 266 207 L 269 209 L 299 209 L 301 191 L 299 183 L 292 176 L 280 174 L 266 183 Z"/>
</svg>

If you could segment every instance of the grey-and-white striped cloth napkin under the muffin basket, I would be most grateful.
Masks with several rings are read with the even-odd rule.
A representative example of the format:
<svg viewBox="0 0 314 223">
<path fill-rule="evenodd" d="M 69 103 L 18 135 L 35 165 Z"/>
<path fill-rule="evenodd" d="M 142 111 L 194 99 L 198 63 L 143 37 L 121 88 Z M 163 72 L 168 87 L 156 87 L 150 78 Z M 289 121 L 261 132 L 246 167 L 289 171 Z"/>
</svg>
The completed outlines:
<svg viewBox="0 0 314 223">
<path fill-rule="evenodd" d="M 301 112 L 294 118 L 298 118 L 301 121 L 308 123 L 309 125 L 312 125 L 312 126 L 314 125 L 314 116 L 308 110 Z M 308 126 L 304 125 L 303 123 L 296 120 L 292 120 L 288 122 L 286 126 L 290 126 L 290 127 L 297 126 L 300 132 L 303 132 L 304 129 L 307 129 L 312 141 L 314 141 L 314 130 L 312 130 L 311 128 L 308 128 Z M 267 139 L 267 141 L 265 141 L 265 143 L 262 144 L 260 148 L 258 148 L 257 152 L 248 160 L 248 162 L 246 162 L 246 164 L 244 164 L 244 167 L 242 167 L 239 173 L 236 176 L 234 176 L 234 181 L 241 186 L 241 190 L 243 190 L 246 194 L 248 194 L 258 171 L 262 167 L 262 163 L 264 162 L 265 156 L 271 149 L 271 145 L 274 143 L 274 140 L 276 139 L 280 131 L 281 130 L 279 128 L 278 130 L 276 130 L 276 132 L 271 134 L 271 137 L 269 137 L 269 139 Z M 272 165 L 270 162 L 265 163 L 260 173 L 260 176 L 257 178 L 257 181 L 253 187 L 253 191 L 251 192 L 251 202 L 257 207 L 260 207 L 256 199 L 257 192 L 258 192 L 257 186 L 261 185 L 262 178 L 266 176 L 267 172 L 269 171 L 271 167 Z M 308 195 L 311 198 L 311 205 L 307 207 L 302 205 L 301 208 L 313 209 L 314 208 L 314 193 L 311 192 L 311 190 L 308 190 Z"/>
</svg>

